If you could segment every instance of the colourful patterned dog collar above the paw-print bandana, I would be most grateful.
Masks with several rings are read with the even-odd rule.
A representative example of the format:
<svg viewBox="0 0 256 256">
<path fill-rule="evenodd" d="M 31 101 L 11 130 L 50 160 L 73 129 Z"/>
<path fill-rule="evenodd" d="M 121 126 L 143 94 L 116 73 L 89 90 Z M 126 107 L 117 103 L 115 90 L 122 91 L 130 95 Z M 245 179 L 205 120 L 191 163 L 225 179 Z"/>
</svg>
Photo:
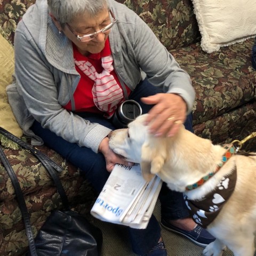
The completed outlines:
<svg viewBox="0 0 256 256">
<path fill-rule="evenodd" d="M 206 182 L 207 180 L 209 180 L 211 177 L 213 177 L 213 175 L 215 173 L 217 173 L 220 168 L 227 163 L 228 159 L 233 156 L 234 154 L 236 154 L 236 148 L 231 145 L 229 147 L 225 147 L 227 148 L 227 151 L 225 152 L 225 154 L 222 156 L 222 161 L 217 165 L 216 170 L 214 172 L 210 172 L 209 174 L 207 174 L 206 176 L 204 176 L 202 179 L 198 180 L 196 183 L 194 183 L 193 185 L 188 185 L 186 187 L 186 190 L 193 190 L 198 188 L 199 186 L 203 185 L 204 182 Z"/>
</svg>

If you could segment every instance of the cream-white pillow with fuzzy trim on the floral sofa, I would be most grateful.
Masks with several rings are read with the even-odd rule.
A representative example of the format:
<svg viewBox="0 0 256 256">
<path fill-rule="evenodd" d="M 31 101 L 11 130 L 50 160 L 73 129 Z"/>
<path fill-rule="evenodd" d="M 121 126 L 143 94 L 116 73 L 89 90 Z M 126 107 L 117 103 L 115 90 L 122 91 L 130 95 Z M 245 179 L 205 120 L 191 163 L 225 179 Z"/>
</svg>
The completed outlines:
<svg viewBox="0 0 256 256">
<path fill-rule="evenodd" d="M 191 0 L 207 53 L 256 35 L 256 0 Z"/>
</svg>

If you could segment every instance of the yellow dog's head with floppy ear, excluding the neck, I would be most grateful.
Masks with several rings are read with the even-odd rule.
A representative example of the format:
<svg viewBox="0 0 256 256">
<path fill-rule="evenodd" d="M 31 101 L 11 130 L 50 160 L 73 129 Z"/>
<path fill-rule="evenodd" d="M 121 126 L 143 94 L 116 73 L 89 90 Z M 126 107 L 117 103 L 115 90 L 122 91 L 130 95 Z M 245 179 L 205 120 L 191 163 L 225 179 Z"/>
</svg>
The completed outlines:
<svg viewBox="0 0 256 256">
<path fill-rule="evenodd" d="M 150 180 L 161 171 L 166 161 L 166 142 L 148 132 L 147 114 L 137 117 L 127 129 L 109 134 L 109 147 L 127 161 L 140 163 L 143 177 Z"/>
</svg>

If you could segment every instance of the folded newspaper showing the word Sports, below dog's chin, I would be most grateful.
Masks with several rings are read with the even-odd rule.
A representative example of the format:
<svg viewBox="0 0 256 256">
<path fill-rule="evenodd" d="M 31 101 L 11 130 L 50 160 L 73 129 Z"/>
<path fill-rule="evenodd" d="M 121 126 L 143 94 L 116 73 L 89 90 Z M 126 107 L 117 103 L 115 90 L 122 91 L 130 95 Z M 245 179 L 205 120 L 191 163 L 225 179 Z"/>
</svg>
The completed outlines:
<svg viewBox="0 0 256 256">
<path fill-rule="evenodd" d="M 144 229 L 153 213 L 162 181 L 142 177 L 140 165 L 116 164 L 91 214 L 100 220 Z"/>
</svg>

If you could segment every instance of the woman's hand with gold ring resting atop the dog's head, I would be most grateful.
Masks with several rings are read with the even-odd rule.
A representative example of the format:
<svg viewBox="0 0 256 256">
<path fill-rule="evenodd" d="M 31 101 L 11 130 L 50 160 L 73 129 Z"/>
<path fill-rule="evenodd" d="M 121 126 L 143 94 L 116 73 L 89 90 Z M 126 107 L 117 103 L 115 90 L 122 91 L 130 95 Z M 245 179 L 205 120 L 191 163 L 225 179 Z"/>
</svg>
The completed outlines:
<svg viewBox="0 0 256 256">
<path fill-rule="evenodd" d="M 186 121 L 187 105 L 178 94 L 158 93 L 141 100 L 155 105 L 148 113 L 146 124 L 156 137 L 172 137 Z"/>
</svg>

